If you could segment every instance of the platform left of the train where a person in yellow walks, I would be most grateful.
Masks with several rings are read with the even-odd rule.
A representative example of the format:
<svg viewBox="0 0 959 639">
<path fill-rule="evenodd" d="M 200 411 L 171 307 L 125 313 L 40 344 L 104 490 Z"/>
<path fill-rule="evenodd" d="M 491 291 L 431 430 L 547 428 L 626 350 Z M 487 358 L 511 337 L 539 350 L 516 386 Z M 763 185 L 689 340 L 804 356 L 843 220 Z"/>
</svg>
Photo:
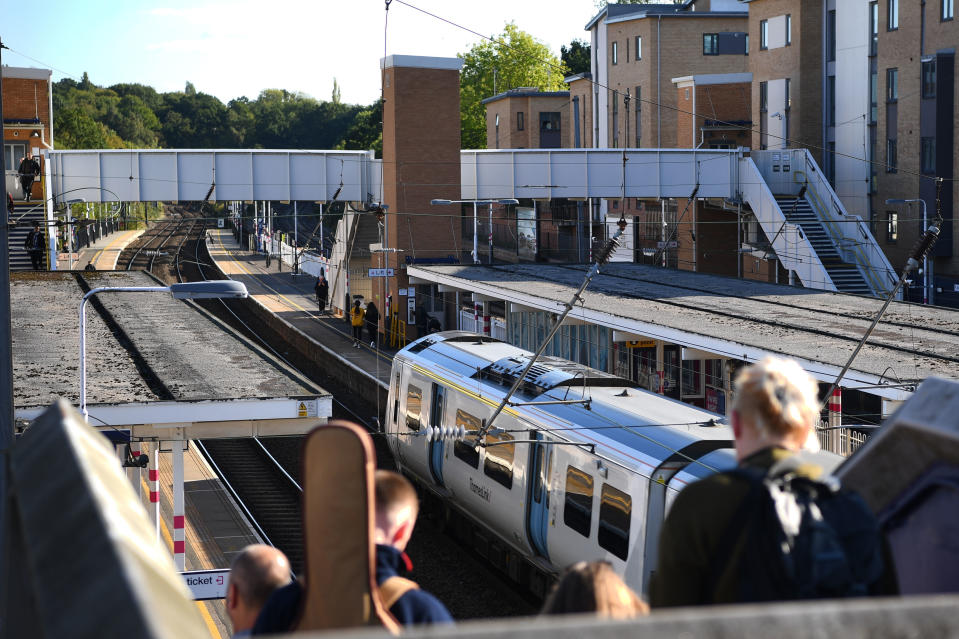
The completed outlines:
<svg viewBox="0 0 959 639">
<path fill-rule="evenodd" d="M 217 267 L 227 277 L 246 284 L 250 297 L 257 303 L 340 359 L 375 377 L 382 386 L 389 386 L 397 349 L 383 343 L 383 333 L 375 348 L 368 341 L 361 348 L 354 348 L 349 321 L 319 312 L 313 293 L 316 280 L 311 275 L 294 275 L 279 260 L 267 267 L 264 255 L 241 247 L 227 229 L 212 229 L 208 236 L 210 257 Z M 368 339 L 365 329 L 363 336 Z"/>
</svg>

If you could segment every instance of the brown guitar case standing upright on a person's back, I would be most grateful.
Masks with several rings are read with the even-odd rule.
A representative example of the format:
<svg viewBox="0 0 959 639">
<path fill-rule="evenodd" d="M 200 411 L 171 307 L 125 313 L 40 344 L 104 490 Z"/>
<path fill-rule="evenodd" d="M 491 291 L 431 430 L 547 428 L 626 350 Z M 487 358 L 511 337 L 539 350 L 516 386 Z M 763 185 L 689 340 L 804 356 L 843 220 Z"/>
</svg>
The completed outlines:
<svg viewBox="0 0 959 639">
<path fill-rule="evenodd" d="M 370 436 L 334 420 L 303 445 L 304 594 L 293 629 L 331 630 L 400 624 L 376 586 L 374 486 Z"/>
</svg>

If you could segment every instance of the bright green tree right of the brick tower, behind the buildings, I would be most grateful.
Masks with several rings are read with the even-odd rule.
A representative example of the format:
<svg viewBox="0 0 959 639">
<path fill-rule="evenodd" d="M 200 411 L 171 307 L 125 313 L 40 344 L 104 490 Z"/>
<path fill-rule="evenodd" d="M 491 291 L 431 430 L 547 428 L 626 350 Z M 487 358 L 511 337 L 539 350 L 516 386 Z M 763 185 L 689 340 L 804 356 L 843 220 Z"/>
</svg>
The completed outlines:
<svg viewBox="0 0 959 639">
<path fill-rule="evenodd" d="M 549 47 L 509 23 L 503 33 L 473 46 L 463 58 L 460 72 L 460 119 L 465 149 L 486 148 L 486 109 L 481 101 L 496 90 L 535 87 L 540 91 L 564 88 L 566 66 Z"/>
</svg>

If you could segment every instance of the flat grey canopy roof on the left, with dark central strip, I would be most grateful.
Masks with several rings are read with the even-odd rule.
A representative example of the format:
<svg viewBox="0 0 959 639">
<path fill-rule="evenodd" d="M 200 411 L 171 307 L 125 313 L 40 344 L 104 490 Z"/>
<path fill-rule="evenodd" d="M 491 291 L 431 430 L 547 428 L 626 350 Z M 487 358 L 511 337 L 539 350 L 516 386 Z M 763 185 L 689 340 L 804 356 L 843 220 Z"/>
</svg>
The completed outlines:
<svg viewBox="0 0 959 639">
<path fill-rule="evenodd" d="M 158 286 L 142 272 L 23 273 L 11 277 L 14 405 L 79 398 L 78 307 L 100 286 Z M 169 293 L 100 293 L 87 308 L 90 404 L 317 398 L 329 393 L 278 363 L 202 309 Z M 112 322 L 115 322 L 113 324 Z M 130 344 L 121 343 L 121 329 Z"/>
</svg>

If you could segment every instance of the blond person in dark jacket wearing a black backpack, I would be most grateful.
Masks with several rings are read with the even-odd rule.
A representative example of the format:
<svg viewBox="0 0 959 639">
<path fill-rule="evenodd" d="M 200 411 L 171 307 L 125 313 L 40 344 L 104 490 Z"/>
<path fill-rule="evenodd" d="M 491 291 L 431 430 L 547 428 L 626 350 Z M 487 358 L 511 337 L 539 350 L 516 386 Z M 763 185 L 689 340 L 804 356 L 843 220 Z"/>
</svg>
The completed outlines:
<svg viewBox="0 0 959 639">
<path fill-rule="evenodd" d="M 650 580 L 655 607 L 898 594 L 891 554 L 861 497 L 807 461 L 818 384 L 768 357 L 736 378 L 738 466 L 677 495 Z"/>
</svg>

